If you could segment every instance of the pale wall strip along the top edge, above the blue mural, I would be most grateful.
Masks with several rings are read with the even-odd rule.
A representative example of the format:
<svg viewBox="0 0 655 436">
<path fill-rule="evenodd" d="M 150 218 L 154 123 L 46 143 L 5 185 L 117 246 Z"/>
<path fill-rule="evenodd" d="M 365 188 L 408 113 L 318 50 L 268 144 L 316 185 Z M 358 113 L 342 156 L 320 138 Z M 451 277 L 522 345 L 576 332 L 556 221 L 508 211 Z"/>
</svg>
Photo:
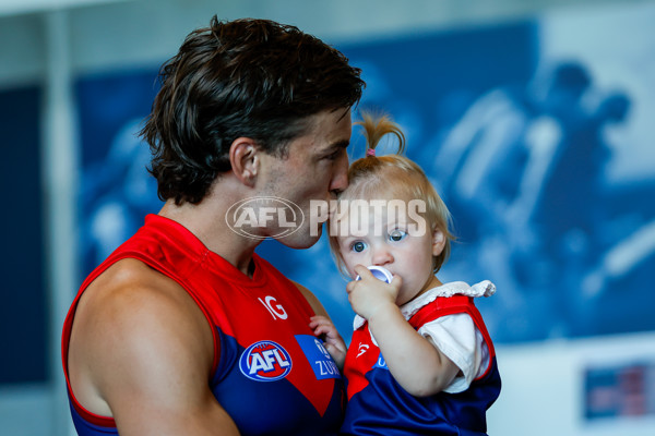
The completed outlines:
<svg viewBox="0 0 655 436">
<path fill-rule="evenodd" d="M 73 71 L 87 72 L 159 64 L 214 13 L 294 24 L 334 44 L 612 2 L 639 0 L 0 0 L 0 88 L 43 76 L 41 14 L 60 9 L 69 12 Z"/>
</svg>

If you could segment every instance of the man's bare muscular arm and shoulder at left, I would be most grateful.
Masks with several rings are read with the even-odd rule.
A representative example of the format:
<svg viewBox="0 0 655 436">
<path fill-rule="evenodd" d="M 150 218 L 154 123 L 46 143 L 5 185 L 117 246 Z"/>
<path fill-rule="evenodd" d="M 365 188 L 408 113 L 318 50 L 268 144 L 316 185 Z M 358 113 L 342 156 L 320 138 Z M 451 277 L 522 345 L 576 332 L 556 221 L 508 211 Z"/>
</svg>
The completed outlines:
<svg viewBox="0 0 655 436">
<path fill-rule="evenodd" d="M 69 351 L 73 392 L 130 435 L 238 435 L 209 377 L 212 329 L 190 295 L 126 259 L 80 301 Z"/>
</svg>

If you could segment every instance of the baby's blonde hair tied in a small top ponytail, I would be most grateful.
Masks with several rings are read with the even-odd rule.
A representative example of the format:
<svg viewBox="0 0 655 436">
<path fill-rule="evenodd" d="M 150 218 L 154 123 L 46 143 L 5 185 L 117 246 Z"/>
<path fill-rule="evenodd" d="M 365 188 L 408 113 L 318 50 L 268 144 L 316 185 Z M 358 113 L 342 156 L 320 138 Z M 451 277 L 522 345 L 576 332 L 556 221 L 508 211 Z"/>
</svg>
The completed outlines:
<svg viewBox="0 0 655 436">
<path fill-rule="evenodd" d="M 440 230 L 445 240 L 441 253 L 432 257 L 432 271 L 437 272 L 450 256 L 450 242 L 455 239 L 450 231 L 452 221 L 450 211 L 422 169 L 414 161 L 401 156 L 405 149 L 405 135 L 401 128 L 388 116 L 374 117 L 371 113 L 362 112 L 361 119 L 362 121 L 355 124 L 364 128 L 367 156 L 350 164 L 348 187 L 340 194 L 338 198 L 370 198 L 376 192 L 386 190 L 397 197 L 426 202 L 424 216 L 428 221 L 428 230 Z M 369 149 L 374 150 L 380 144 L 380 140 L 388 134 L 392 134 L 398 140 L 396 154 L 384 156 L 374 156 L 373 154 L 371 156 Z M 338 269 L 347 276 L 336 234 L 330 234 L 330 250 Z"/>
</svg>

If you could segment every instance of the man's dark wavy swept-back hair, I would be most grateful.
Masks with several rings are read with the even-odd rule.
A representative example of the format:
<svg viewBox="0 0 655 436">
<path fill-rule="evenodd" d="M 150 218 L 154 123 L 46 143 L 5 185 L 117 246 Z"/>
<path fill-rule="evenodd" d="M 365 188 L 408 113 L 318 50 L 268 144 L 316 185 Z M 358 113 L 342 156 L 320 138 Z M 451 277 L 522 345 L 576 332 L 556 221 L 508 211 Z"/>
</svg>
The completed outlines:
<svg viewBox="0 0 655 436">
<path fill-rule="evenodd" d="M 159 198 L 178 205 L 200 203 L 230 169 L 236 138 L 285 157 L 309 116 L 353 107 L 365 86 L 343 53 L 294 26 L 216 16 L 187 36 L 159 78 L 141 136 Z"/>
</svg>

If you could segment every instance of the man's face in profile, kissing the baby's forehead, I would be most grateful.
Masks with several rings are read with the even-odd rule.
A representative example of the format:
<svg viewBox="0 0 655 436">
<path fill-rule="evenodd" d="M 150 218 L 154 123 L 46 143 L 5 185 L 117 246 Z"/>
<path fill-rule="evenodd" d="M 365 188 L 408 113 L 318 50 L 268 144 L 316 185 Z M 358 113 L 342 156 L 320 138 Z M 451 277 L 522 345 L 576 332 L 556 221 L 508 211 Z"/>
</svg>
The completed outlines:
<svg viewBox="0 0 655 436">
<path fill-rule="evenodd" d="M 310 229 L 311 201 L 335 198 L 335 193 L 348 185 L 348 155 L 352 121 L 349 109 L 326 110 L 309 118 L 309 130 L 288 144 L 287 156 L 262 157 L 262 193 L 293 202 L 305 214 L 300 228 L 278 241 L 295 249 L 313 245 L 321 235 Z M 266 229 L 269 235 L 278 228 Z"/>
</svg>

